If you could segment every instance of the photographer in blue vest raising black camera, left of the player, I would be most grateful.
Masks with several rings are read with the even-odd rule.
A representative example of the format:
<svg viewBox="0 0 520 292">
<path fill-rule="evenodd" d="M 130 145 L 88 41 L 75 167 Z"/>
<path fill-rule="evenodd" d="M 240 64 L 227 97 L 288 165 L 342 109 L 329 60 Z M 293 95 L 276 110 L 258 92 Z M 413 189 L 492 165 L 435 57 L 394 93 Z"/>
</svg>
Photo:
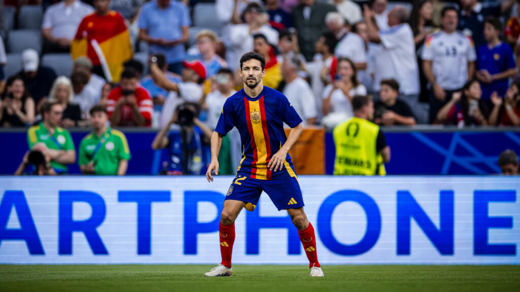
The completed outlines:
<svg viewBox="0 0 520 292">
<path fill-rule="evenodd" d="M 153 139 L 154 150 L 168 148 L 167 175 L 200 175 L 205 173 L 202 144 L 211 139 L 213 131 L 199 119 L 199 106 L 194 102 L 178 105 L 175 112 Z M 170 131 L 176 124 L 180 131 Z"/>
</svg>

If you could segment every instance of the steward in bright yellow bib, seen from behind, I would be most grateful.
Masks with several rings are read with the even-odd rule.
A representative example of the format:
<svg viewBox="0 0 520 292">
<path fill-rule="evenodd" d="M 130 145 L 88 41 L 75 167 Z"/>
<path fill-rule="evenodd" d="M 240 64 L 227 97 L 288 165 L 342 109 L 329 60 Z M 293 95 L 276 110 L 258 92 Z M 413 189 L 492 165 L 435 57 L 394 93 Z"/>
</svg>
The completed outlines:
<svg viewBox="0 0 520 292">
<path fill-rule="evenodd" d="M 334 175 L 385 175 L 384 163 L 390 161 L 390 148 L 379 126 L 370 122 L 374 103 L 370 97 L 355 96 L 352 107 L 354 117 L 333 131 Z"/>
</svg>

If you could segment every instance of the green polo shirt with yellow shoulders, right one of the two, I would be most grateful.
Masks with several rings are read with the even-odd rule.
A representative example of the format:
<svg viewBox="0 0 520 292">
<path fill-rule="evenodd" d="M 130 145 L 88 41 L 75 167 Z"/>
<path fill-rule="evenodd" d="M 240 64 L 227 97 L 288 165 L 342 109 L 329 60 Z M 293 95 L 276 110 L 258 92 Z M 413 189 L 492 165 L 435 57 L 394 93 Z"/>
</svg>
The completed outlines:
<svg viewBox="0 0 520 292">
<path fill-rule="evenodd" d="M 81 140 L 79 163 L 93 161 L 97 175 L 117 175 L 122 160 L 130 160 L 130 150 L 121 131 L 109 127 L 101 137 L 92 132 Z"/>
</svg>

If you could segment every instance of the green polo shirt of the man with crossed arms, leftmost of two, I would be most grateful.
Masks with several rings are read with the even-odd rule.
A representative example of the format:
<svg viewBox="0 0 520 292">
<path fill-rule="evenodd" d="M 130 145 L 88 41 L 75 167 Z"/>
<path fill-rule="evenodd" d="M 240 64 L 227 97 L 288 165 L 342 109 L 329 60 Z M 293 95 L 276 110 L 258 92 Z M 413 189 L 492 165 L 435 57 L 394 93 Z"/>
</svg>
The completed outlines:
<svg viewBox="0 0 520 292">
<path fill-rule="evenodd" d="M 29 149 L 32 149 L 34 144 L 38 142 L 44 143 L 48 149 L 53 150 L 75 150 L 74 142 L 70 136 L 70 132 L 66 129 L 56 127 L 53 135 L 49 136 L 49 131 L 43 123 L 32 126 L 27 132 L 27 140 L 29 142 Z M 50 162 L 50 166 L 58 173 L 68 172 L 69 168 L 65 164 Z"/>
</svg>

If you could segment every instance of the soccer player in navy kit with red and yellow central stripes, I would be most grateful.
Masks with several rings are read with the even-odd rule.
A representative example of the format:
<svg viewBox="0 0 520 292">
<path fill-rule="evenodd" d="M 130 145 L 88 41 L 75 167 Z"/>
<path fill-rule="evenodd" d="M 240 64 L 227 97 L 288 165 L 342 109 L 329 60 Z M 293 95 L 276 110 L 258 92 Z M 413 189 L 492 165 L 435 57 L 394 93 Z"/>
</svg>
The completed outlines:
<svg viewBox="0 0 520 292">
<path fill-rule="evenodd" d="M 313 225 L 303 211 L 300 184 L 288 152 L 302 133 L 302 119 L 287 97 L 264 86 L 265 59 L 255 52 L 240 58 L 244 88 L 229 97 L 211 137 L 211 164 L 206 178 L 218 175 L 218 152 L 223 137 L 237 127 L 242 138 L 243 156 L 237 177 L 231 183 L 220 215 L 218 232 L 222 262 L 204 276 L 230 276 L 231 253 L 235 242 L 235 219 L 242 208 L 253 211 L 262 191 L 278 210 L 287 209 L 309 259 L 310 276 L 323 276 L 316 255 Z M 285 137 L 283 123 L 292 129 Z"/>
</svg>

